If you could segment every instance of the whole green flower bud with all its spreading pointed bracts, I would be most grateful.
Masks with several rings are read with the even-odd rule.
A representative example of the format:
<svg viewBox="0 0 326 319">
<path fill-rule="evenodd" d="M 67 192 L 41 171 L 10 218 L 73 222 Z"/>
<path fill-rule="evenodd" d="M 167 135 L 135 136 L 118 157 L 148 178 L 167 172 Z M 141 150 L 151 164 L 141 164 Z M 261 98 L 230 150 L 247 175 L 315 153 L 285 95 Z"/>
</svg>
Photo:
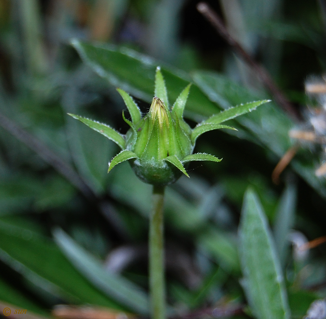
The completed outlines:
<svg viewBox="0 0 326 319">
<path fill-rule="evenodd" d="M 124 99 L 131 121 L 122 116 L 130 126 L 126 135 L 107 124 L 75 114 L 69 114 L 82 123 L 115 142 L 122 151 L 109 163 L 109 170 L 128 160 L 136 175 L 144 182 L 165 186 L 175 182 L 182 173 L 189 177 L 184 165 L 195 160 L 219 162 L 210 154 L 192 154 L 197 138 L 213 129 L 234 129 L 221 123 L 256 109 L 269 100 L 256 101 L 229 108 L 202 121 L 191 129 L 183 119 L 190 84 L 180 93 L 170 108 L 168 93 L 160 68 L 156 69 L 155 97 L 149 112 L 142 118 L 137 104 L 125 91 L 117 89 Z"/>
</svg>

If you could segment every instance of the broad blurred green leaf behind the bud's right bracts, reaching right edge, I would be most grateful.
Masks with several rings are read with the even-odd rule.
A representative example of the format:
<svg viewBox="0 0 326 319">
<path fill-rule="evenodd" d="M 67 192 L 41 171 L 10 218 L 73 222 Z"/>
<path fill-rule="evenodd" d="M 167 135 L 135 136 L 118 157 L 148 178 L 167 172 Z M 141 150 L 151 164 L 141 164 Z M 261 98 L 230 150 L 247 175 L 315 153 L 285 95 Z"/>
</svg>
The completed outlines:
<svg viewBox="0 0 326 319">
<path fill-rule="evenodd" d="M 216 72 L 195 72 L 193 74 L 193 81 L 205 92 L 211 101 L 216 102 L 223 109 L 228 109 L 232 105 L 265 98 L 265 96 L 252 94 L 248 89 Z M 200 112 L 200 110 L 198 111 Z M 255 112 L 237 117 L 235 121 L 247 128 L 247 133 L 250 133 L 251 137 L 246 133 L 246 139 L 263 145 L 279 158 L 292 145 L 289 138 L 289 130 L 295 124 L 273 102 L 268 103 L 264 107 L 259 107 Z M 311 187 L 319 192 L 322 197 L 326 198 L 326 180 L 315 175 L 316 162 L 319 162 L 318 156 L 309 163 L 305 160 L 294 158 L 290 165 Z"/>
</svg>

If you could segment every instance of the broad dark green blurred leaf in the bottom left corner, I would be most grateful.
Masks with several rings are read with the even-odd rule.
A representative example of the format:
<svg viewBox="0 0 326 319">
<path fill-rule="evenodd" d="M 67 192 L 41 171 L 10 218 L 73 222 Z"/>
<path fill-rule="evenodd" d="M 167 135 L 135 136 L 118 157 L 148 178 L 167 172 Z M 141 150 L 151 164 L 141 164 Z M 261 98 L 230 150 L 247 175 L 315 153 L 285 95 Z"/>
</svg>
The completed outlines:
<svg viewBox="0 0 326 319">
<path fill-rule="evenodd" d="M 68 303 L 123 309 L 88 282 L 52 241 L 29 229 L 0 221 L 0 259 Z"/>
</svg>

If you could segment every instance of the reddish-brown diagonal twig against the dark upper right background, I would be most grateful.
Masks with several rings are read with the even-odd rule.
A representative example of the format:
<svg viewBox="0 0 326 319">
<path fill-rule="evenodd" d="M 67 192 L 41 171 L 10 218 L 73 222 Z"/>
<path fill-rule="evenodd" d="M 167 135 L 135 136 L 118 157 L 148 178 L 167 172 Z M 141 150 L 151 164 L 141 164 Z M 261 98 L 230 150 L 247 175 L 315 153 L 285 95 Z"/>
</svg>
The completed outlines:
<svg viewBox="0 0 326 319">
<path fill-rule="evenodd" d="M 234 51 L 256 72 L 262 83 L 272 94 L 275 102 L 279 104 L 293 120 L 299 121 L 300 118 L 298 113 L 277 87 L 267 70 L 259 65 L 254 58 L 244 50 L 239 42 L 230 35 L 217 13 L 206 2 L 197 4 L 197 10 L 215 27 L 218 34 L 229 43 Z"/>
</svg>

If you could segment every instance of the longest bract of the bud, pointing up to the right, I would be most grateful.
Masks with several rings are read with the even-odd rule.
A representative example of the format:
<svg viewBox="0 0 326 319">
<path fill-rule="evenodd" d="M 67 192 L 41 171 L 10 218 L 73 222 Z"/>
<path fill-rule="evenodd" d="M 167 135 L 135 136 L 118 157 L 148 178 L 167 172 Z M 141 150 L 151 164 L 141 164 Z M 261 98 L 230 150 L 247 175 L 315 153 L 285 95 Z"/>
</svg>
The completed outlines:
<svg viewBox="0 0 326 319">
<path fill-rule="evenodd" d="M 232 118 L 235 118 L 239 115 L 254 111 L 259 105 L 262 105 L 270 101 L 271 100 L 254 101 L 250 103 L 240 104 L 235 107 L 230 107 L 230 109 L 212 115 L 211 117 L 201 122 L 200 124 L 220 124 L 225 121 L 231 120 Z"/>
</svg>

